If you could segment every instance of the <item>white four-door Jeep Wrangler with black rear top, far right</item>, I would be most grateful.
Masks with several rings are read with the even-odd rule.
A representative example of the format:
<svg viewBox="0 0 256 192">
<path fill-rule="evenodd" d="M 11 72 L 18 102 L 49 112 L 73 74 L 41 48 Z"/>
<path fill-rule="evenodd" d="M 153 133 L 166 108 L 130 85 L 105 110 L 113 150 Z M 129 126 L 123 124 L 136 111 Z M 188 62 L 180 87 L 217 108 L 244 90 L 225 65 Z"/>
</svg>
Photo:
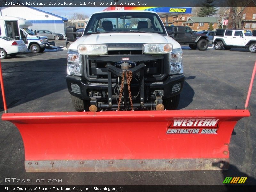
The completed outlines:
<svg viewBox="0 0 256 192">
<path fill-rule="evenodd" d="M 248 48 L 249 52 L 256 52 L 256 37 L 250 30 L 217 29 L 213 37 L 215 49 L 226 50 L 232 47 Z"/>
</svg>

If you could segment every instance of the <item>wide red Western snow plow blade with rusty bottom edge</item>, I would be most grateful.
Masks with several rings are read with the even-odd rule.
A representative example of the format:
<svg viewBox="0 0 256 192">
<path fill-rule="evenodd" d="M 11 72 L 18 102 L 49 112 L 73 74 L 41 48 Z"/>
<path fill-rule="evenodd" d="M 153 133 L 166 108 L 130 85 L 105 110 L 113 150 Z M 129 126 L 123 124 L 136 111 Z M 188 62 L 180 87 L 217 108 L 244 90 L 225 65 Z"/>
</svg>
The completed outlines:
<svg viewBox="0 0 256 192">
<path fill-rule="evenodd" d="M 248 110 L 7 113 L 27 172 L 227 169 L 229 143 Z"/>
</svg>

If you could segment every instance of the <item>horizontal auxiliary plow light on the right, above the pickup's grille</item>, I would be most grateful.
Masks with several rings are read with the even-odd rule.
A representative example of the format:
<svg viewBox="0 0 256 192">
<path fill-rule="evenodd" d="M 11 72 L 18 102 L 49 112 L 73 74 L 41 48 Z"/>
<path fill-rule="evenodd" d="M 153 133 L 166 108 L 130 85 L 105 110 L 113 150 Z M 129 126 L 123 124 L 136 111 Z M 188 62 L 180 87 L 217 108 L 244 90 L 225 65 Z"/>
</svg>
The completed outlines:
<svg viewBox="0 0 256 192">
<path fill-rule="evenodd" d="M 166 54 L 172 52 L 172 44 L 160 43 L 160 44 L 143 44 L 143 53 L 146 54 Z"/>
</svg>

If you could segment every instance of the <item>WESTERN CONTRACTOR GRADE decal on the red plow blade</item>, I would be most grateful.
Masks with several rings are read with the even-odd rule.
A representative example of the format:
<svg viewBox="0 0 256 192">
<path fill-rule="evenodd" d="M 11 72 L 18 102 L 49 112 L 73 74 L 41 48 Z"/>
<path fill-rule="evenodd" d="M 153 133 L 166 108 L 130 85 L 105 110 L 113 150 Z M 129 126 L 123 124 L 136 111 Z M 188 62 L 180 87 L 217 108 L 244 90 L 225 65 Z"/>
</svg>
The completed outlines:
<svg viewBox="0 0 256 192">
<path fill-rule="evenodd" d="M 174 119 L 166 134 L 217 134 L 219 119 Z"/>
</svg>

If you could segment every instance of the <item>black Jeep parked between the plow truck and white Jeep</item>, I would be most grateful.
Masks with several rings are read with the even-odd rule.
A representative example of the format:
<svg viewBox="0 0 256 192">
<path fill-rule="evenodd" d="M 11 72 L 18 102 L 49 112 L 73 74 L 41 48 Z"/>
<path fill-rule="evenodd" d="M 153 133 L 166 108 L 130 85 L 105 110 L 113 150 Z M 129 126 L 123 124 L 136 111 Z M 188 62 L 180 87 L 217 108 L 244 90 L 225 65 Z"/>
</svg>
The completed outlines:
<svg viewBox="0 0 256 192">
<path fill-rule="evenodd" d="M 169 36 L 181 45 L 189 45 L 191 49 L 204 51 L 208 48 L 209 39 L 204 34 L 197 34 L 188 26 L 165 26 Z"/>
</svg>

